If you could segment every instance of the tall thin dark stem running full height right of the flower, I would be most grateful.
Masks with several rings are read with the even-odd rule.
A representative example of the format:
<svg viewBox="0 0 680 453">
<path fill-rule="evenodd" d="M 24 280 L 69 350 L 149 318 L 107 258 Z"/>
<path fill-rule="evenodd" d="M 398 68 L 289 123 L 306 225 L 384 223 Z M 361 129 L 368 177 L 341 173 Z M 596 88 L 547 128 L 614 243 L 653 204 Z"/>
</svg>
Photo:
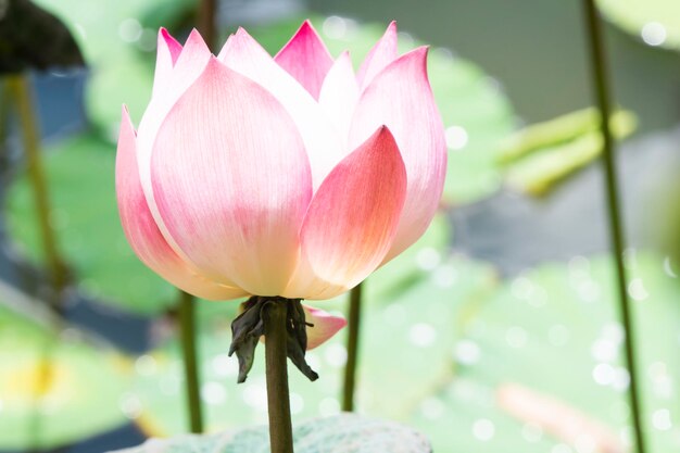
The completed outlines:
<svg viewBox="0 0 680 453">
<path fill-rule="evenodd" d="M 638 453 L 645 453 L 644 432 L 642 427 L 642 407 L 640 404 L 638 365 L 635 363 L 634 344 L 635 337 L 633 335 L 633 322 L 630 313 L 630 304 L 626 285 L 626 268 L 624 266 L 624 226 L 619 209 L 618 184 L 616 179 L 616 158 L 614 155 L 614 139 L 609 128 L 610 118 L 610 97 L 607 75 L 607 62 L 605 46 L 602 36 L 602 25 L 597 15 L 595 0 L 583 0 L 583 12 L 585 20 L 585 28 L 588 29 L 588 39 L 591 55 L 592 84 L 594 95 L 597 100 L 597 106 L 602 113 L 600 122 L 602 136 L 604 138 L 604 152 L 602 154 L 606 197 L 609 217 L 609 237 L 612 240 L 612 249 L 614 251 L 616 262 L 616 277 L 619 300 L 619 311 L 624 328 L 626 329 L 626 339 L 624 341 L 626 350 L 626 365 L 630 373 L 629 400 L 632 412 L 634 442 Z"/>
</svg>

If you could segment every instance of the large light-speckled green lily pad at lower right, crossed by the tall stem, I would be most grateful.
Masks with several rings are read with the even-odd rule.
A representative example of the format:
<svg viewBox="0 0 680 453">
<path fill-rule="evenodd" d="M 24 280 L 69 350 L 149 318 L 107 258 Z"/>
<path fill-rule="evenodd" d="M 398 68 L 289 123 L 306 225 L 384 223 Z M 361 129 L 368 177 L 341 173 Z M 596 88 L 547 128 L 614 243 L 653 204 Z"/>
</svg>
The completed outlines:
<svg viewBox="0 0 680 453">
<path fill-rule="evenodd" d="M 617 322 L 613 272 L 607 257 L 579 256 L 568 265 L 546 264 L 508 281 L 473 309 L 475 316 L 448 343 L 448 366 L 438 364 L 439 369 L 429 362 L 432 376 L 424 380 L 420 399 L 408 414 L 398 412 L 398 418 L 423 430 L 436 451 L 484 453 L 502 445 L 504 451 L 538 453 L 576 448 L 551 435 L 551 423 L 568 420 L 546 419 L 541 426 L 540 420 L 520 420 L 503 408 L 502 389 L 520 385 L 596 420 L 614 439 L 625 437 L 630 423 L 628 375 L 621 362 L 625 334 Z M 680 397 L 672 380 L 680 372 L 675 353 L 680 286 L 664 272 L 664 260 L 652 253 L 629 254 L 628 272 L 648 446 L 653 452 L 673 451 L 680 433 Z M 455 318 L 448 319 L 453 326 Z M 405 354 L 402 347 L 399 355 Z M 396 376 L 405 366 L 398 369 Z M 372 373 L 364 379 L 373 379 Z M 385 405 L 391 410 L 394 402 L 374 399 L 372 413 L 383 414 Z"/>
</svg>

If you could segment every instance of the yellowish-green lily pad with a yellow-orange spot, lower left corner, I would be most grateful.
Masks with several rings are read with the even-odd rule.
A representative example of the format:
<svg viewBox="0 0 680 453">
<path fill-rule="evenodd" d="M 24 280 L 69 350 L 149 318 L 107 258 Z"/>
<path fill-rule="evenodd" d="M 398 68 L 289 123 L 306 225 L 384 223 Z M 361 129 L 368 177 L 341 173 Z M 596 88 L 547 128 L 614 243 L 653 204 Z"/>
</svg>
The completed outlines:
<svg viewBox="0 0 680 453">
<path fill-rule="evenodd" d="M 70 444 L 127 421 L 127 362 L 0 305 L 0 450 Z"/>
</svg>

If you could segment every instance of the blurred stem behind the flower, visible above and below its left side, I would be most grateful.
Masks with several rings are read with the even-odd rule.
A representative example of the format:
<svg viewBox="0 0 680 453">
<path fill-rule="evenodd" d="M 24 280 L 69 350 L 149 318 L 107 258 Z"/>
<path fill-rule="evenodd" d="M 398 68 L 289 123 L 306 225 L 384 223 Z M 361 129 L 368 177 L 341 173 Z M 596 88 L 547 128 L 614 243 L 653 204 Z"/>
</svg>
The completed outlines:
<svg viewBox="0 0 680 453">
<path fill-rule="evenodd" d="M 198 4 L 197 27 L 207 47 L 215 45 L 215 11 L 216 0 L 200 0 Z M 201 407 L 201 380 L 197 365 L 196 344 L 196 299 L 193 295 L 179 291 L 179 325 L 181 352 L 185 362 L 185 390 L 189 408 L 189 429 L 191 432 L 203 432 L 203 411 Z"/>
</svg>

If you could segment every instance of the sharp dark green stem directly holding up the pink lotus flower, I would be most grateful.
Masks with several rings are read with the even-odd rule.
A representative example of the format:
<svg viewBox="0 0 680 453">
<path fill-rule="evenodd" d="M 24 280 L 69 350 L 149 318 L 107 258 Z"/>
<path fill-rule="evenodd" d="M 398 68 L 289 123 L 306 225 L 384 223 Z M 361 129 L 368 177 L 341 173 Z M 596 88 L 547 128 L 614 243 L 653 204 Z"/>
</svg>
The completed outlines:
<svg viewBox="0 0 680 453">
<path fill-rule="evenodd" d="M 288 392 L 287 302 L 274 300 L 263 310 L 269 445 L 272 453 L 293 453 Z"/>
</svg>

